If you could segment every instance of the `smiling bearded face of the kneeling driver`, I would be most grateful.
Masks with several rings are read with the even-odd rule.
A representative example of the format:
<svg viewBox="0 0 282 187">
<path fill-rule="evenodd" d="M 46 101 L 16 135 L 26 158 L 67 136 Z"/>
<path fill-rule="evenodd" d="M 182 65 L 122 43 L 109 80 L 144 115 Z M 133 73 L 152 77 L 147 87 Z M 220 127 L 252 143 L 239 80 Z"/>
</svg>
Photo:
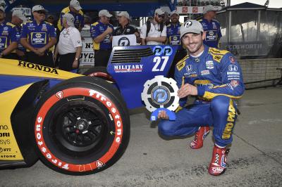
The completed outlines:
<svg viewBox="0 0 282 187">
<path fill-rule="evenodd" d="M 204 48 L 203 45 L 204 37 L 205 37 L 205 33 L 203 34 L 187 33 L 181 38 L 181 40 L 184 46 L 186 47 L 186 49 L 188 49 L 189 53 L 191 55 L 196 56 L 198 53 L 202 52 L 202 50 L 200 49 Z"/>
</svg>

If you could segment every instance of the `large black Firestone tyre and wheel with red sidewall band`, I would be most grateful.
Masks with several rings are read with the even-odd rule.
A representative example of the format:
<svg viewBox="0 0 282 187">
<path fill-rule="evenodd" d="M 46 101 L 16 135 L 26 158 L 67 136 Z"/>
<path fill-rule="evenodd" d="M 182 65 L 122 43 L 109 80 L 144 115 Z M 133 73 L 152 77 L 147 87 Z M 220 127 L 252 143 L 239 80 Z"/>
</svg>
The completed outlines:
<svg viewBox="0 0 282 187">
<path fill-rule="evenodd" d="M 64 174 L 84 175 L 114 165 L 123 155 L 130 120 L 121 94 L 111 84 L 76 77 L 40 99 L 32 129 L 45 165 Z"/>
</svg>

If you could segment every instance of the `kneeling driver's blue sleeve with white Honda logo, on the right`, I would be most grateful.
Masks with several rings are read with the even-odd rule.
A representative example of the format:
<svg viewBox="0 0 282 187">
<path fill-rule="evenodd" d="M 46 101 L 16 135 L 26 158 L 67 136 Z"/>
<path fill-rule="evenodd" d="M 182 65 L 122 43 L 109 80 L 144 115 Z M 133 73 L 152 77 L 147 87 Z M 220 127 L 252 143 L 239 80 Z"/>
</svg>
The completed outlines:
<svg viewBox="0 0 282 187">
<path fill-rule="evenodd" d="M 219 71 L 221 73 L 221 85 L 204 85 L 198 86 L 198 96 L 212 99 L 215 96 L 228 96 L 229 98 L 241 98 L 245 90 L 243 83 L 242 70 L 231 53 L 223 56 Z"/>
</svg>

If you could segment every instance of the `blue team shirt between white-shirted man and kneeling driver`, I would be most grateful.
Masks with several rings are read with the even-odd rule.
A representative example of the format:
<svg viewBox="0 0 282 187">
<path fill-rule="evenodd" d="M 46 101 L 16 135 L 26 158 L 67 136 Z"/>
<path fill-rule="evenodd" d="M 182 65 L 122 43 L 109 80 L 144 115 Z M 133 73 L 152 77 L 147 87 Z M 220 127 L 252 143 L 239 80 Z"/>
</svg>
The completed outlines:
<svg viewBox="0 0 282 187">
<path fill-rule="evenodd" d="M 168 38 L 168 44 L 173 46 L 178 46 L 178 50 L 183 49 L 180 41 L 180 22 L 170 24 L 166 27 L 166 37 Z"/>
</svg>

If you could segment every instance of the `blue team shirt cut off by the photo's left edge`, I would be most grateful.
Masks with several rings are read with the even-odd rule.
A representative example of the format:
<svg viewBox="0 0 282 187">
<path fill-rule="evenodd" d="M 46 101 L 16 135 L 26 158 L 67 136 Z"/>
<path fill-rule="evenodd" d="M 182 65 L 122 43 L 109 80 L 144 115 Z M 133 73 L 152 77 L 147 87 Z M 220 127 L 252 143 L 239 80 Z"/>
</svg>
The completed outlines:
<svg viewBox="0 0 282 187">
<path fill-rule="evenodd" d="M 18 30 L 11 22 L 2 22 L 0 24 L 0 51 L 4 51 L 11 42 L 17 40 Z"/>
</svg>

